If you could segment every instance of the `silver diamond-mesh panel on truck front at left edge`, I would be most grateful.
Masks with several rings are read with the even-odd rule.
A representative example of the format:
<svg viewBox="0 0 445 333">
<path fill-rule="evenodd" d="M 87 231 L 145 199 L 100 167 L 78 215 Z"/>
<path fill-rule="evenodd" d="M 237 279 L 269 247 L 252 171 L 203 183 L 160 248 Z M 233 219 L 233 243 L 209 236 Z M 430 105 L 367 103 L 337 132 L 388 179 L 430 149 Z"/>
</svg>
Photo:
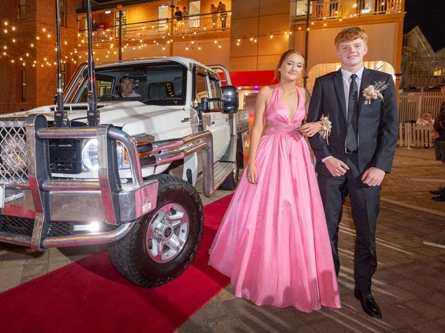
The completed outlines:
<svg viewBox="0 0 445 333">
<path fill-rule="evenodd" d="M 0 184 L 27 183 L 25 121 L 0 120 Z"/>
</svg>

